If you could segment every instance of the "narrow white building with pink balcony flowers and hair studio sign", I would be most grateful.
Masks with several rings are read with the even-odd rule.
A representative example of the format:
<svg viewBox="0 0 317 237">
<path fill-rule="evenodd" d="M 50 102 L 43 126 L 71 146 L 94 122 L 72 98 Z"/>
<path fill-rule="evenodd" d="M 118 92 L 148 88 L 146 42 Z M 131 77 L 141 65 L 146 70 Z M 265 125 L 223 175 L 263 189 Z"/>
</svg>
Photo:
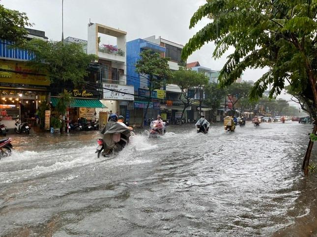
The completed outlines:
<svg viewBox="0 0 317 237">
<path fill-rule="evenodd" d="M 128 119 L 128 102 L 134 101 L 134 87 L 126 83 L 126 34 L 110 26 L 89 23 L 87 53 L 98 56 L 100 71 L 96 81 L 103 88 L 102 103 L 107 110 L 125 115 Z M 100 45 L 107 37 L 115 40 L 116 44 Z"/>
</svg>

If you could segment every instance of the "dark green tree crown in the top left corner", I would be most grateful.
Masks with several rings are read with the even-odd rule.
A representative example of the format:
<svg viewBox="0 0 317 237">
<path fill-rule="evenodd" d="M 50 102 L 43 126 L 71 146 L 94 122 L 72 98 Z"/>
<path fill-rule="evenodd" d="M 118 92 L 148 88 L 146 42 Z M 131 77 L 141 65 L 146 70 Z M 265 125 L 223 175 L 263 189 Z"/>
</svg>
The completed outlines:
<svg viewBox="0 0 317 237">
<path fill-rule="evenodd" d="M 32 26 L 25 12 L 10 10 L 0 5 L 0 39 L 13 41 L 15 44 L 23 44 L 26 41 L 28 31 L 24 28 Z"/>
</svg>

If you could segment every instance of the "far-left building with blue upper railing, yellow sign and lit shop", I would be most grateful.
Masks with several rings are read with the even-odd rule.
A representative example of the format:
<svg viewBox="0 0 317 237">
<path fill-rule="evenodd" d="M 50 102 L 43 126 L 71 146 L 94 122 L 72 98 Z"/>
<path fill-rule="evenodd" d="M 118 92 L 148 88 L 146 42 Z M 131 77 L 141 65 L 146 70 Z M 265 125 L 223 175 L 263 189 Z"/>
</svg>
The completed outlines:
<svg viewBox="0 0 317 237">
<path fill-rule="evenodd" d="M 27 40 L 47 41 L 45 32 L 26 28 Z M 0 114 L 8 129 L 15 128 L 15 120 L 35 125 L 35 113 L 49 98 L 50 80 L 46 71 L 31 68 L 27 62 L 34 53 L 13 46 L 13 42 L 0 39 Z"/>
</svg>

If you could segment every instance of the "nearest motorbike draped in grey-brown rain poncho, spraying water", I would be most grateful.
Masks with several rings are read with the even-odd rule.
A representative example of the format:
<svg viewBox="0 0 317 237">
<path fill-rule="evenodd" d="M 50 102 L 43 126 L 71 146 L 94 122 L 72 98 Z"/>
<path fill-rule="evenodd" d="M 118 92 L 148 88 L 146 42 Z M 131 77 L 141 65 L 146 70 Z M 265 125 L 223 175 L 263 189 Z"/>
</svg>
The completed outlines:
<svg viewBox="0 0 317 237">
<path fill-rule="evenodd" d="M 122 125 L 116 122 L 108 122 L 101 131 L 104 137 L 97 140 L 98 146 L 95 153 L 97 157 L 108 157 L 119 153 L 130 142 L 130 137 L 134 136 L 134 132 L 129 129 L 122 128 Z"/>
</svg>

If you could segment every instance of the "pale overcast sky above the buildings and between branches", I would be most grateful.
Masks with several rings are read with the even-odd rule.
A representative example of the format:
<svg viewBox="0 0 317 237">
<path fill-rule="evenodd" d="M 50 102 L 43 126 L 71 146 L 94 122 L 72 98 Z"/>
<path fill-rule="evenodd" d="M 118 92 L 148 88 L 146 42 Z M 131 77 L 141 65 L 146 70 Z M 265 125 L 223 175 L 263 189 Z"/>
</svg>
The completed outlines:
<svg viewBox="0 0 317 237">
<path fill-rule="evenodd" d="M 0 0 L 9 9 L 26 12 L 32 28 L 45 31 L 52 40 L 61 39 L 62 0 Z M 189 21 L 205 0 L 64 0 L 64 38 L 71 36 L 87 39 L 87 24 L 99 23 L 127 32 L 127 41 L 151 35 L 161 36 L 185 45 L 188 39 L 205 26 L 203 19 L 197 27 L 189 29 Z M 110 43 L 112 42 L 102 42 Z M 214 60 L 213 43 L 193 53 L 187 62 L 199 61 L 201 66 L 220 70 L 226 56 Z M 259 79 L 267 69 L 246 70 L 243 80 Z M 288 99 L 289 97 L 283 98 Z"/>
</svg>

